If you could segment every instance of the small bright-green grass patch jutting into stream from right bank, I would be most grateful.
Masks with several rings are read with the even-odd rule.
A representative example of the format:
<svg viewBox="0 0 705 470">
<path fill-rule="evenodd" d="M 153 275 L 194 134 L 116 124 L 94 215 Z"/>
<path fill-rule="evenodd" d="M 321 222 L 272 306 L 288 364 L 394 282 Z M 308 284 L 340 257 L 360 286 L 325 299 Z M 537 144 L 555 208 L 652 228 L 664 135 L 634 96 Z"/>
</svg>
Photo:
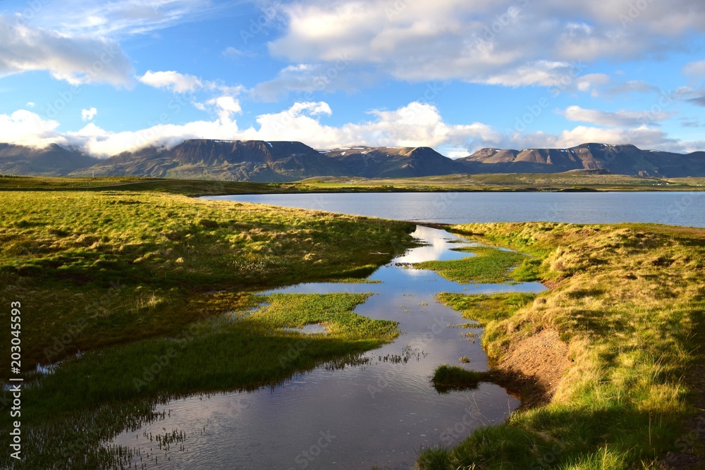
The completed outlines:
<svg viewBox="0 0 705 470">
<path fill-rule="evenodd" d="M 414 267 L 432 269 L 458 283 L 508 283 L 537 279 L 534 269 L 537 260 L 525 254 L 495 247 L 465 247 L 457 251 L 475 256 L 450 261 L 424 261 L 415 263 Z"/>
</svg>

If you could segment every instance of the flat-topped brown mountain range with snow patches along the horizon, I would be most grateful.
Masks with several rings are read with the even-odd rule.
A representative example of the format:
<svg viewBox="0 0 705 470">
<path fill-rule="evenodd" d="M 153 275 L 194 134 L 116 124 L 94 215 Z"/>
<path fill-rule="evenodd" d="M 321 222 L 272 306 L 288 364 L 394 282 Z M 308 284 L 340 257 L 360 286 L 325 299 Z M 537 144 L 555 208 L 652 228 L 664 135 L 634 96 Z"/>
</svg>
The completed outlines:
<svg viewBox="0 0 705 470">
<path fill-rule="evenodd" d="M 285 182 L 316 176 L 409 178 L 455 173 L 560 173 L 590 170 L 678 178 L 705 176 L 705 151 L 676 154 L 633 145 L 582 144 L 570 149 L 481 149 L 449 159 L 430 147 L 316 150 L 301 142 L 185 140 L 97 159 L 52 144 L 0 144 L 0 173 L 54 176 L 143 176 Z"/>
</svg>

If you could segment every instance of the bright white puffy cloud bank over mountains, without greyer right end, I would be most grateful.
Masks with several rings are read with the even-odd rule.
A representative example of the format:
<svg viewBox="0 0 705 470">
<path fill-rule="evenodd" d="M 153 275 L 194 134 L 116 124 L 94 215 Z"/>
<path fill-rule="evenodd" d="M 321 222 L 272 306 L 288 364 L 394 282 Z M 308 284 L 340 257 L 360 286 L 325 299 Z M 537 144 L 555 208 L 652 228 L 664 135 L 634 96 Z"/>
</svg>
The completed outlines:
<svg viewBox="0 0 705 470">
<path fill-rule="evenodd" d="M 369 113 L 372 119 L 340 127 L 321 123 L 321 118 L 333 113 L 324 101 L 299 102 L 286 111 L 258 116 L 259 128 L 247 129 L 238 128 L 235 120 L 231 120 L 234 113 L 240 112 L 235 99 L 219 97 L 213 100 L 212 106 L 220 110 L 218 118 L 213 121 L 155 125 L 130 132 L 109 132 L 89 123 L 81 130 L 63 134 L 56 132 L 59 126 L 56 121 L 44 121 L 30 111 L 17 111 L 12 116 L 0 115 L 0 141 L 35 147 L 59 142 L 104 157 L 149 145 L 173 146 L 189 138 L 300 140 L 312 147 L 330 148 L 355 144 L 408 147 L 450 144 L 461 147 L 473 139 L 499 142 L 502 137 L 501 132 L 482 123 L 448 125 L 434 106 L 417 102 L 394 111 L 373 110 Z"/>
</svg>

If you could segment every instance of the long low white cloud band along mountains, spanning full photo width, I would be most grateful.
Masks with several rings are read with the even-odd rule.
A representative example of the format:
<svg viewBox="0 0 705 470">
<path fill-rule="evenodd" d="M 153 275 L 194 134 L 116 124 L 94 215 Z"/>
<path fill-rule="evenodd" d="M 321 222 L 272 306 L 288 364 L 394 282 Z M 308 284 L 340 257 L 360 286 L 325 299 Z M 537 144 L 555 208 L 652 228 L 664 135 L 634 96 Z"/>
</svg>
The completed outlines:
<svg viewBox="0 0 705 470">
<path fill-rule="evenodd" d="M 396 110 L 372 110 L 369 112 L 369 120 L 339 126 L 321 122 L 333 113 L 324 101 L 299 102 L 286 111 L 258 116 L 257 128 L 246 129 L 239 128 L 232 119 L 233 114 L 240 112 L 240 105 L 235 99 L 216 99 L 213 106 L 221 110 L 216 120 L 197 120 L 181 125 L 160 124 L 125 132 L 110 132 L 94 123 L 88 123 L 78 131 L 62 133 L 56 130 L 59 127 L 56 121 L 43 120 L 35 113 L 20 110 L 11 116 L 0 115 L 0 142 L 34 147 L 59 143 L 82 148 L 101 157 L 148 146 L 173 147 L 192 138 L 298 140 L 318 149 L 355 145 L 433 147 L 450 149 L 450 156 L 464 156 L 482 147 L 565 148 L 586 142 L 635 144 L 643 149 L 668 151 L 702 148 L 701 142 L 681 142 L 669 137 L 663 130 L 649 128 L 647 125 L 633 128 L 579 125 L 558 134 L 517 132 L 507 135 L 484 123 L 448 124 L 438 109 L 419 102 L 412 102 Z"/>
</svg>

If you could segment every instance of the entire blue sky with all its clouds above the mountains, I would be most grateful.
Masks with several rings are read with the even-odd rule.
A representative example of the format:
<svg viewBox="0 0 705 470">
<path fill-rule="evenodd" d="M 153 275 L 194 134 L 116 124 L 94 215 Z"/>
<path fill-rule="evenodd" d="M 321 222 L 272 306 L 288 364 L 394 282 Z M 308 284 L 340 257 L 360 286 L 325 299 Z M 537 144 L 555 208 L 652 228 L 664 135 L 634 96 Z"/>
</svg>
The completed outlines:
<svg viewBox="0 0 705 470">
<path fill-rule="evenodd" d="M 0 142 L 705 149 L 701 0 L 0 2 Z"/>
</svg>

